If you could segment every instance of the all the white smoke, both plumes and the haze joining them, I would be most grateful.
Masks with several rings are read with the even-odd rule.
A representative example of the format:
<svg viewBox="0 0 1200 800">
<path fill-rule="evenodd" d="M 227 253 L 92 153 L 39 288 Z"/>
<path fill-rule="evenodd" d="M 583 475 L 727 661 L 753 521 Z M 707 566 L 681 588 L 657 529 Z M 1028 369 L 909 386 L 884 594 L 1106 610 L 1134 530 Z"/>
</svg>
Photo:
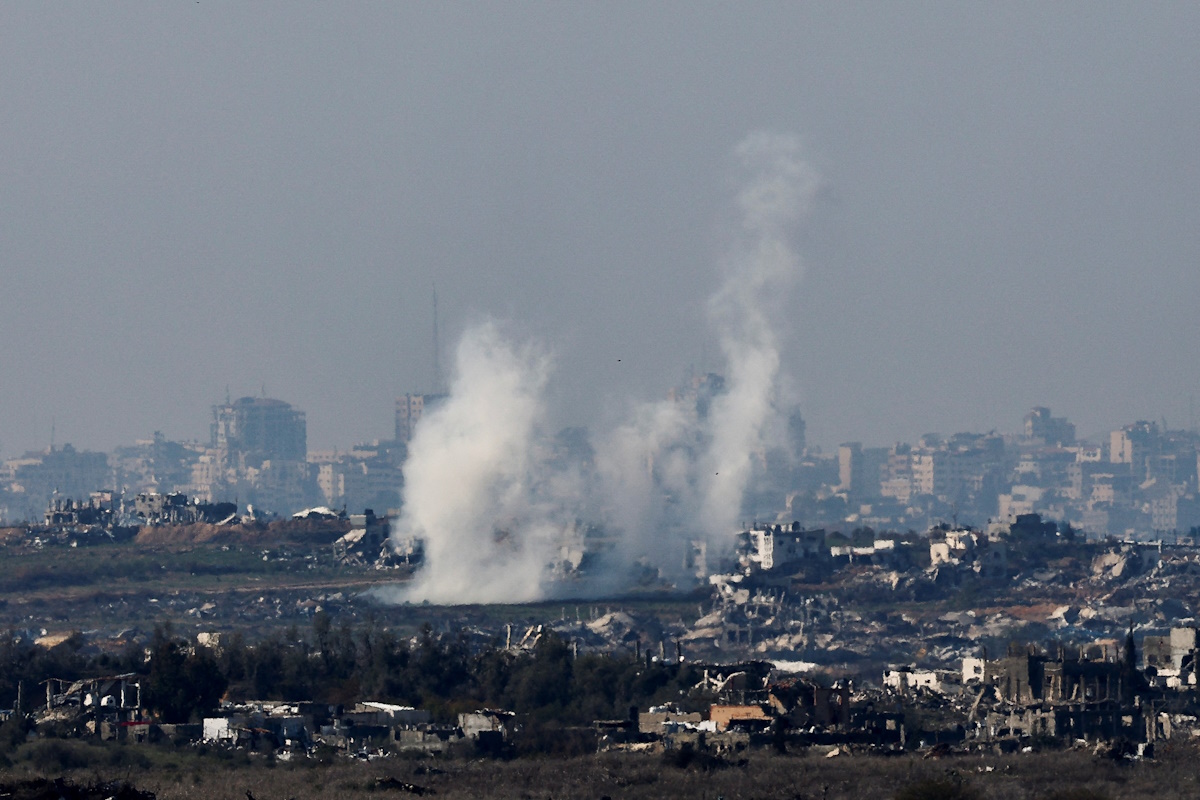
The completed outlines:
<svg viewBox="0 0 1200 800">
<path fill-rule="evenodd" d="M 802 265 L 788 229 L 818 186 L 794 137 L 755 133 L 734 156 L 744 175 L 740 228 L 708 302 L 724 387 L 703 408 L 636 405 L 625 423 L 593 438 L 593 457 L 581 463 L 563 458 L 542 427 L 552 367 L 545 348 L 496 323 L 470 327 L 450 397 L 422 416 L 404 464 L 394 535 L 424 539 L 426 565 L 392 599 L 521 602 L 618 591 L 636 563 L 678 576 L 692 541 L 712 549 L 730 540 L 755 458 L 790 410 L 779 330 Z M 588 525 L 606 534 L 604 560 L 584 583 L 557 581 L 564 542 Z"/>
</svg>

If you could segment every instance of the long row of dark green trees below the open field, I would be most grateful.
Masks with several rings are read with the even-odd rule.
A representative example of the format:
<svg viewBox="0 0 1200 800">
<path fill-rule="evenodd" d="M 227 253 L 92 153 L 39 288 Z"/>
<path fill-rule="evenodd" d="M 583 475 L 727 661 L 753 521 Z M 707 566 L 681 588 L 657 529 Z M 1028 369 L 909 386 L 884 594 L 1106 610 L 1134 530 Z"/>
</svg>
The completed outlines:
<svg viewBox="0 0 1200 800">
<path fill-rule="evenodd" d="M 0 637 L 0 706 L 17 703 L 47 678 L 76 679 L 139 673 L 144 699 L 163 722 L 197 720 L 222 698 L 314 700 L 350 704 L 361 699 L 428 709 L 436 718 L 458 711 L 505 708 L 542 722 L 587 724 L 619 718 L 629 708 L 685 702 L 701 675 L 695 667 L 648 662 L 630 654 L 575 657 L 570 643 L 544 634 L 530 651 L 511 652 L 498 642 L 473 646 L 462 634 L 415 638 L 376 624 L 335 626 L 325 614 L 310 631 L 295 628 L 250 643 L 241 634 L 220 649 L 192 646 L 169 627 L 155 631 L 146 650 L 86 656 L 82 638 L 53 649 L 13 634 Z"/>
</svg>

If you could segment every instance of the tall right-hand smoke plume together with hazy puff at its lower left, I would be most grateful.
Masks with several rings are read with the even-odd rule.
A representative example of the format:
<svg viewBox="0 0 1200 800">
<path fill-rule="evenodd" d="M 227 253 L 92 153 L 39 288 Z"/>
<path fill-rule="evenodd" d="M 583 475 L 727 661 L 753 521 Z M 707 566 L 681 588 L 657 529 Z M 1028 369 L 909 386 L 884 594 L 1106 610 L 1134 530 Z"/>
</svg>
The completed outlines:
<svg viewBox="0 0 1200 800">
<path fill-rule="evenodd" d="M 596 474 L 610 523 L 624 534 L 626 559 L 647 557 L 667 575 L 682 567 L 692 539 L 716 551 L 737 530 L 754 456 L 786 429 L 790 391 L 781 373 L 780 331 L 803 269 L 788 243 L 820 179 L 791 136 L 755 133 L 734 150 L 742 191 L 739 229 L 722 260 L 722 283 L 708 315 L 725 356 L 725 391 L 707 415 L 683 403 L 636 407 L 595 443 Z M 748 173 L 748 174 L 746 174 Z"/>
</svg>

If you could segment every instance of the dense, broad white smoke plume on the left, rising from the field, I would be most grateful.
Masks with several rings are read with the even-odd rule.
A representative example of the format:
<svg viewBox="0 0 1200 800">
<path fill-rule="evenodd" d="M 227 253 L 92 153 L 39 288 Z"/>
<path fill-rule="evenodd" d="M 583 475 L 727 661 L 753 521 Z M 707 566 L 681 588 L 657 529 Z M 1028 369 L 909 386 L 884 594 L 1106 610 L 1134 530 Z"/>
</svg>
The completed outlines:
<svg viewBox="0 0 1200 800">
<path fill-rule="evenodd" d="M 404 462 L 396 535 L 425 540 L 410 600 L 456 604 L 542 595 L 553 530 L 532 470 L 548 359 L 494 324 L 458 344 L 449 398 L 421 417 Z"/>
</svg>

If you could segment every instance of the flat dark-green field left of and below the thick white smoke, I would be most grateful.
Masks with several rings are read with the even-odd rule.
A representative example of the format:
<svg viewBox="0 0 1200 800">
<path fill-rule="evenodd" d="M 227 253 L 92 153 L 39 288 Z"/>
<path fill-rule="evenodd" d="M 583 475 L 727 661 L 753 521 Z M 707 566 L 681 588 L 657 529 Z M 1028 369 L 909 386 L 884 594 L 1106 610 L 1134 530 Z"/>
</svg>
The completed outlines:
<svg viewBox="0 0 1200 800">
<path fill-rule="evenodd" d="M 262 634 L 311 624 L 316 609 L 335 620 L 364 615 L 401 633 L 426 622 L 436 630 L 514 628 L 559 618 L 586 619 L 610 606 L 695 619 L 708 599 L 647 594 L 613 601 L 547 601 L 527 604 L 391 604 L 362 596 L 401 587 L 407 570 L 338 565 L 330 547 L 312 542 L 145 543 L 0 551 L 0 630 L 50 633 L 125 631 L 149 633 L 170 622 L 179 631 L 245 631 Z M 522 631 L 517 631 L 517 634 Z M 124 637 L 122 637 L 124 638 Z"/>
</svg>

